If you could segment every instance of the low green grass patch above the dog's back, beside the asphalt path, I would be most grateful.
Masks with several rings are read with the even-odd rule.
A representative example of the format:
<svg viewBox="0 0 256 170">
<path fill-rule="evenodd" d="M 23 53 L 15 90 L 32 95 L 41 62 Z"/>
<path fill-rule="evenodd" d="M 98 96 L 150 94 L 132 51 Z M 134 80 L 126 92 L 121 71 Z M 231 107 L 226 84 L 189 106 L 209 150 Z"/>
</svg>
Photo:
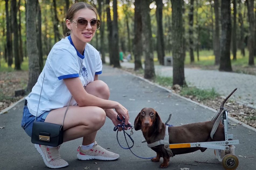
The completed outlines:
<svg viewBox="0 0 256 170">
<path fill-rule="evenodd" d="M 211 90 L 202 90 L 196 87 L 183 87 L 181 88 L 180 95 L 192 95 L 200 100 L 212 99 L 219 96 L 214 88 Z"/>
</svg>

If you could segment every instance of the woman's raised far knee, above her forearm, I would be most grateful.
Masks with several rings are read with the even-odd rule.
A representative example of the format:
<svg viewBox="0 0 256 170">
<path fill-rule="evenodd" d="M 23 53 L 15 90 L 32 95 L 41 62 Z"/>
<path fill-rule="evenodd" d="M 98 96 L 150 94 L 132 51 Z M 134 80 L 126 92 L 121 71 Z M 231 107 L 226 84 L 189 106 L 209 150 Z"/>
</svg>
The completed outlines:
<svg viewBox="0 0 256 170">
<path fill-rule="evenodd" d="M 85 90 L 87 91 L 87 93 L 103 99 L 108 99 L 110 96 L 110 90 L 108 88 L 108 85 L 101 80 L 95 80 L 87 84 Z"/>
</svg>

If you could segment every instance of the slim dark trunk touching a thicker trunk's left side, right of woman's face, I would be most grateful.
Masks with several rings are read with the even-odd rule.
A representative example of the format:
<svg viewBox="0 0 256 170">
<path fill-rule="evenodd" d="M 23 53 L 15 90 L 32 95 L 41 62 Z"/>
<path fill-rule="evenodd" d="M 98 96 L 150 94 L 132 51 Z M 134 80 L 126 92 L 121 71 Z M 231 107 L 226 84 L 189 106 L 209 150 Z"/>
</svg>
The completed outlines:
<svg viewBox="0 0 256 170">
<path fill-rule="evenodd" d="M 110 5 L 109 0 L 106 0 L 107 5 L 107 27 L 108 27 L 108 53 L 109 53 L 109 60 L 110 65 L 113 65 L 113 52 L 112 52 L 112 35 L 113 35 L 113 28 L 112 28 L 112 21 L 110 15 Z"/>
</svg>

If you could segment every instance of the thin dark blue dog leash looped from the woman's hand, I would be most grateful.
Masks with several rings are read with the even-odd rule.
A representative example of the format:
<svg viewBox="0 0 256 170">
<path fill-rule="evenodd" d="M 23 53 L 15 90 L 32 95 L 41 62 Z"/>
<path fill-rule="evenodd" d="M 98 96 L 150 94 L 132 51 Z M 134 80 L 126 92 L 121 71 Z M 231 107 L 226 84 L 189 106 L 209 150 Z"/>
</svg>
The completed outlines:
<svg viewBox="0 0 256 170">
<path fill-rule="evenodd" d="M 120 121 L 120 122 L 122 122 L 122 120 L 120 119 L 120 117 L 119 117 L 118 115 L 117 115 L 117 120 Z M 118 137 L 117 137 L 117 142 L 118 142 L 118 144 L 119 144 L 123 149 L 129 149 L 129 150 L 132 152 L 131 148 L 134 146 L 134 141 L 133 141 L 133 139 L 131 138 L 131 135 L 133 134 L 133 132 L 132 132 L 133 126 L 132 126 L 132 125 L 124 125 L 124 120 L 125 120 L 125 118 L 123 117 L 122 125 L 117 125 L 117 126 L 115 126 L 115 127 L 114 127 L 114 131 L 117 131 L 118 127 L 122 127 L 122 128 L 123 128 L 124 138 L 125 138 L 125 141 L 126 141 L 128 147 L 122 147 L 122 146 L 120 145 L 119 141 L 118 141 Z M 127 132 L 125 132 L 124 127 L 126 127 L 126 128 L 131 127 L 131 134 L 130 134 L 130 135 L 129 135 Z M 117 134 L 118 134 L 118 131 L 117 131 Z M 125 135 L 125 134 L 127 134 L 127 135 L 129 136 L 129 138 L 131 139 L 131 141 L 132 141 L 132 146 L 131 146 L 131 147 L 129 147 L 129 145 L 128 145 L 128 142 L 127 142 L 127 139 L 126 139 L 126 135 Z M 134 153 L 132 152 L 132 154 L 134 154 Z M 134 154 L 134 155 L 135 155 L 135 154 Z M 137 156 L 137 155 L 135 155 L 135 156 L 136 156 L 136 157 L 139 157 L 139 156 Z M 142 159 L 152 159 L 152 158 L 155 158 L 155 157 L 150 157 L 150 158 L 139 157 L 139 158 L 142 158 Z"/>
</svg>

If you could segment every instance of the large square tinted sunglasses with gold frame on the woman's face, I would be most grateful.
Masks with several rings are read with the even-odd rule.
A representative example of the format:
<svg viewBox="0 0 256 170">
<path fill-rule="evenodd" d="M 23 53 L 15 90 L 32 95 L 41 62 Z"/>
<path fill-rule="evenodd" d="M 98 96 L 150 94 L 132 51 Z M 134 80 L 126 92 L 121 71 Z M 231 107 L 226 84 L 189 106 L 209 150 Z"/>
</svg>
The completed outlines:
<svg viewBox="0 0 256 170">
<path fill-rule="evenodd" d="M 71 21 L 71 20 L 69 20 Z M 93 30 L 100 29 L 100 20 L 94 19 L 91 21 L 87 21 L 86 19 L 77 19 L 76 21 L 71 21 L 73 23 L 76 23 L 77 29 L 85 29 L 87 27 L 87 24 L 90 23 Z"/>
</svg>

